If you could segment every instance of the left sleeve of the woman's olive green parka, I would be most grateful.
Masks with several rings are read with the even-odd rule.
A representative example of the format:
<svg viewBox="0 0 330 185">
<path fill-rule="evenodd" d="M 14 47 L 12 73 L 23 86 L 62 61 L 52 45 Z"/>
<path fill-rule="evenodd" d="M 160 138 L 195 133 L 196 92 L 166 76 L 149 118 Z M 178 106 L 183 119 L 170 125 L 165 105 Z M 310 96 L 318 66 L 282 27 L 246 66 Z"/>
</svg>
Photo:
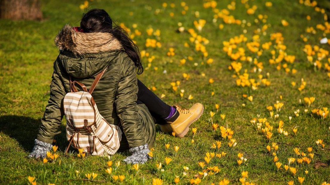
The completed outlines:
<svg viewBox="0 0 330 185">
<path fill-rule="evenodd" d="M 63 111 L 61 110 L 62 99 L 65 96 L 65 89 L 60 79 L 60 69 L 57 61 L 53 65 L 54 72 L 50 84 L 50 98 L 41 125 L 37 139 L 46 143 L 52 143 L 56 134 L 61 133 L 60 125 L 63 118 Z"/>
</svg>

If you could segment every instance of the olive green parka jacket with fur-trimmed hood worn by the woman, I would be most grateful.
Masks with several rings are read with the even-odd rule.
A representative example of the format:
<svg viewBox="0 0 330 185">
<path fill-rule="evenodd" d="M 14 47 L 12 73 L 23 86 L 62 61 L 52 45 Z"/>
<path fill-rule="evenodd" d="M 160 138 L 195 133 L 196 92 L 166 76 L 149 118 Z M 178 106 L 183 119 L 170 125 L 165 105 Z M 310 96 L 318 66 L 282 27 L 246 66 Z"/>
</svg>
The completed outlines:
<svg viewBox="0 0 330 185">
<path fill-rule="evenodd" d="M 110 33 L 82 33 L 65 25 L 55 43 L 60 53 L 53 64 L 50 98 L 37 139 L 52 143 L 54 136 L 60 133 L 62 99 L 70 92 L 69 75 L 88 89 L 95 76 L 108 67 L 92 96 L 100 114 L 109 123 L 121 125 L 124 135 L 119 150 L 146 143 L 152 147 L 155 124 L 148 108 L 136 104 L 135 65 L 120 42 Z"/>
</svg>

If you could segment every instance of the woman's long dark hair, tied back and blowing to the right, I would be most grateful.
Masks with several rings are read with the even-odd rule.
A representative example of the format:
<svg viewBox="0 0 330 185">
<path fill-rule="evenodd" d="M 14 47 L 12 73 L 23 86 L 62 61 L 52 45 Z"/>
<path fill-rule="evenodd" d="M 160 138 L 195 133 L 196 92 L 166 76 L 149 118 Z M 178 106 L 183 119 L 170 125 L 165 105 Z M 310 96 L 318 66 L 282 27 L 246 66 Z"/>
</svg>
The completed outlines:
<svg viewBox="0 0 330 185">
<path fill-rule="evenodd" d="M 80 28 L 85 33 L 111 33 L 117 40 L 120 41 L 121 45 L 124 48 L 124 51 L 126 52 L 128 57 L 132 59 L 135 66 L 138 68 L 137 73 L 141 74 L 143 72 L 139 48 L 131 40 L 131 38 L 128 36 L 127 32 L 123 28 L 112 22 L 111 17 L 105 10 L 92 9 L 87 13 L 84 13 L 80 22 Z"/>
</svg>

